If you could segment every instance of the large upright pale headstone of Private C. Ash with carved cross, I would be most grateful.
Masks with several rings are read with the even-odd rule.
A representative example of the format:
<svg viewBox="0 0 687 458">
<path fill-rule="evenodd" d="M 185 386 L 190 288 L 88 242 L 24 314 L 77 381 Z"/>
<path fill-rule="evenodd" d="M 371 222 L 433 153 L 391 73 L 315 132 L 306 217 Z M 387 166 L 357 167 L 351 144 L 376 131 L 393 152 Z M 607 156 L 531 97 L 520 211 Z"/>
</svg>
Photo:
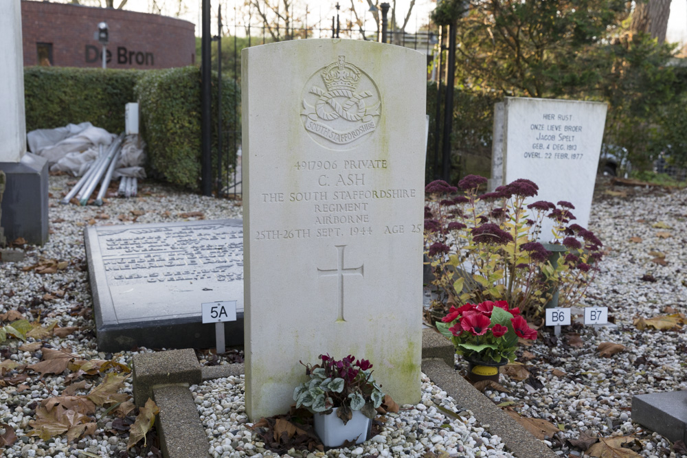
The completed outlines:
<svg viewBox="0 0 687 458">
<path fill-rule="evenodd" d="M 349 40 L 243 50 L 246 407 L 320 354 L 420 399 L 425 57 Z"/>
</svg>

